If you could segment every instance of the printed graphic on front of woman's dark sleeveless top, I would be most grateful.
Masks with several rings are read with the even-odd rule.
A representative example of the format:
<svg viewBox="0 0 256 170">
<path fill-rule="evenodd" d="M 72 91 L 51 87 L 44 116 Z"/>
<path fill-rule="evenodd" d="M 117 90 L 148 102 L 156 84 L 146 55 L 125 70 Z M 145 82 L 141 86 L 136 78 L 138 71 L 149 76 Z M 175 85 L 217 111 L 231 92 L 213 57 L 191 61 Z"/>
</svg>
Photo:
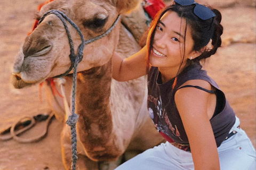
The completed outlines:
<svg viewBox="0 0 256 170">
<path fill-rule="evenodd" d="M 148 113 L 155 124 L 155 128 L 158 131 L 161 131 L 166 135 L 172 133 L 176 137 L 179 137 L 181 141 L 183 141 L 180 138 L 180 133 L 177 126 L 172 125 L 165 108 L 163 108 L 161 96 L 159 96 L 159 98 L 155 98 L 154 96 L 148 95 Z"/>
</svg>

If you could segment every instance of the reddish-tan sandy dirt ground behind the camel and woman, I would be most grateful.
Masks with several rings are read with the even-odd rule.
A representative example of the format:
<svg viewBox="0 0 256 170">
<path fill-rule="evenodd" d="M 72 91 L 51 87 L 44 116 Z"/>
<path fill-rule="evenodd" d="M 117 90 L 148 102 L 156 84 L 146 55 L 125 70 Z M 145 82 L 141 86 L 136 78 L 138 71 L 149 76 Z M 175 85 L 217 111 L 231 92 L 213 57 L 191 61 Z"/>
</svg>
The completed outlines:
<svg viewBox="0 0 256 170">
<path fill-rule="evenodd" d="M 44 89 L 39 86 L 14 89 L 11 67 L 22 42 L 34 23 L 37 5 L 44 0 L 0 0 L 0 130 L 23 116 L 49 113 Z M 224 33 L 218 53 L 207 60 L 205 68 L 226 93 L 230 105 L 241 120 L 255 147 L 255 6 L 220 8 Z M 40 123 L 22 137 L 33 137 L 45 124 Z M 64 169 L 61 162 L 61 123 L 53 120 L 43 140 L 23 144 L 0 141 L 0 170 Z"/>
</svg>

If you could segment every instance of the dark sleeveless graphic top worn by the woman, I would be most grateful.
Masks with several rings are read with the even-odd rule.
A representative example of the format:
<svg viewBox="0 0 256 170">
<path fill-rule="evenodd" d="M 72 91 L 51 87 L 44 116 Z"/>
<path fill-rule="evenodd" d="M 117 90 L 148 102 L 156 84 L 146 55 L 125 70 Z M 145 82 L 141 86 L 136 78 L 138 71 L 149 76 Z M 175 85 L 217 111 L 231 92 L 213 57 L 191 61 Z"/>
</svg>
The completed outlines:
<svg viewBox="0 0 256 170">
<path fill-rule="evenodd" d="M 210 123 L 217 147 L 219 147 L 235 124 L 235 113 L 217 83 L 207 75 L 205 70 L 202 70 L 200 64 L 186 67 L 177 76 L 177 84 L 173 90 L 174 79 L 162 83 L 161 72 L 158 71 L 158 67 L 151 67 L 148 74 L 148 112 L 156 129 L 167 141 L 170 141 L 171 138 L 175 142 L 188 145 L 188 137 L 175 105 L 174 95 L 183 83 L 195 79 L 205 80 L 217 89 L 208 92 L 214 92 L 217 96 L 217 106 Z M 198 131 L 202 130 L 198 129 Z"/>
</svg>

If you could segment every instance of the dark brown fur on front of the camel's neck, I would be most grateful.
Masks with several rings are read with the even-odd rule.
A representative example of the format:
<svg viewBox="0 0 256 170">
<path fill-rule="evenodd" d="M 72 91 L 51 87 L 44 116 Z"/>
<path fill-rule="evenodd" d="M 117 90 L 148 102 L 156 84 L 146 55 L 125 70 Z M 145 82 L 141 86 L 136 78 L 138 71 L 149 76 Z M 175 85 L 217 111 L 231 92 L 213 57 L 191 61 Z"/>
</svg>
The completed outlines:
<svg viewBox="0 0 256 170">
<path fill-rule="evenodd" d="M 78 73 L 76 110 L 78 128 L 83 143 L 107 142 L 113 129 L 109 97 L 111 86 L 111 60 L 100 67 Z M 91 146 L 92 147 L 92 146 Z"/>
</svg>

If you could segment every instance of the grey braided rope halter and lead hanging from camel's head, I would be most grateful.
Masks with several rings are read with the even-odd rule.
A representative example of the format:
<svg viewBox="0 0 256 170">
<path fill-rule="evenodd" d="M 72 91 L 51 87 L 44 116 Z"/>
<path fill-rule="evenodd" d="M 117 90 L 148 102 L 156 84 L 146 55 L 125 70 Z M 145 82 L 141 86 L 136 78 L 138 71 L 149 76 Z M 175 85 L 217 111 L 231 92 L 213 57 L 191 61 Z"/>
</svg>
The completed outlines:
<svg viewBox="0 0 256 170">
<path fill-rule="evenodd" d="M 94 41 L 101 39 L 102 37 L 105 37 L 106 35 L 108 35 L 108 33 L 110 33 L 116 26 L 116 24 L 118 23 L 120 16 L 118 15 L 116 21 L 113 23 L 113 25 L 111 25 L 111 27 L 104 33 L 102 33 L 102 35 L 99 35 L 95 38 L 89 39 L 89 40 L 84 40 L 84 36 L 82 34 L 82 31 L 77 27 L 77 25 L 70 20 L 64 13 L 62 13 L 61 11 L 58 10 L 50 10 L 48 12 L 46 12 L 42 18 L 39 20 L 38 25 L 45 19 L 45 17 L 49 14 L 55 14 L 56 16 L 58 16 L 58 18 L 62 21 L 67 36 L 68 36 L 68 41 L 69 41 L 69 46 L 70 46 L 70 61 L 71 61 L 71 66 L 69 67 L 69 69 L 63 73 L 58 75 L 57 77 L 63 77 L 65 75 L 67 75 L 72 69 L 74 69 L 73 72 L 73 86 L 72 86 L 72 113 L 71 115 L 69 115 L 68 120 L 67 120 L 67 124 L 70 126 L 71 129 L 71 145 L 72 145 L 72 159 L 73 159 L 73 163 L 72 163 L 72 168 L 73 170 L 76 169 L 76 163 L 77 163 L 77 138 L 76 138 L 76 122 L 78 120 L 78 115 L 75 113 L 75 99 L 76 99 L 76 80 L 77 80 L 77 66 L 78 63 L 82 61 L 83 59 L 83 50 L 84 50 L 84 46 L 86 44 L 90 44 L 93 43 Z M 77 52 L 77 56 L 75 55 L 75 50 L 74 50 L 74 44 L 73 44 L 73 40 L 71 39 L 70 36 L 70 32 L 68 30 L 68 26 L 66 23 L 66 20 L 72 25 L 72 27 L 74 27 L 76 29 L 76 31 L 78 32 L 79 36 L 81 37 L 81 41 L 82 43 L 78 46 L 78 52 Z M 57 78 L 54 77 L 54 78 Z"/>
</svg>

